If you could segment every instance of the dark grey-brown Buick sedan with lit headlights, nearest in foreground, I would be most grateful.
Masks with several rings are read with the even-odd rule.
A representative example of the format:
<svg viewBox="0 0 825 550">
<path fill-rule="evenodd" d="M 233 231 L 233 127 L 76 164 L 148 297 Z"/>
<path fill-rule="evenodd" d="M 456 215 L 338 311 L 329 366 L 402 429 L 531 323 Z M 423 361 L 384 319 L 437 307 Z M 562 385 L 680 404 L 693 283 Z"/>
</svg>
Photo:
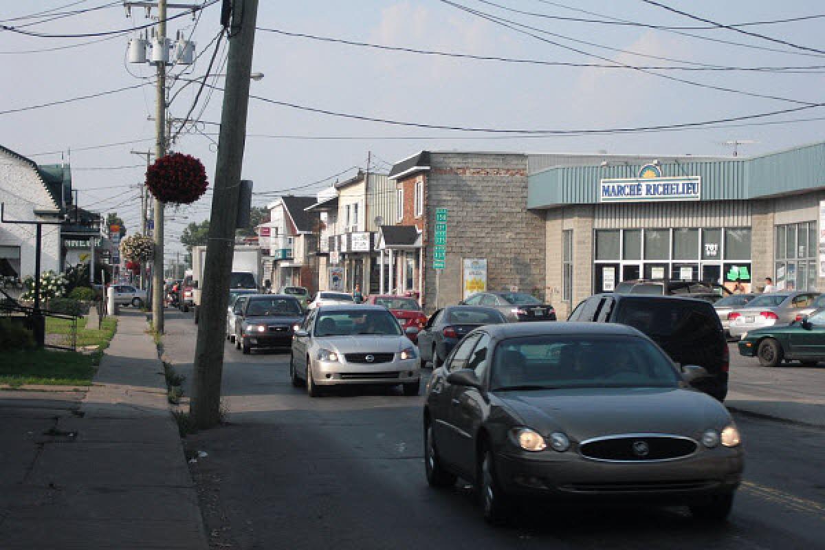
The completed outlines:
<svg viewBox="0 0 825 550">
<path fill-rule="evenodd" d="M 467 335 L 427 383 L 424 470 L 474 482 L 491 522 L 518 499 L 689 505 L 724 520 L 743 468 L 719 402 L 632 327 L 508 323 Z"/>
</svg>

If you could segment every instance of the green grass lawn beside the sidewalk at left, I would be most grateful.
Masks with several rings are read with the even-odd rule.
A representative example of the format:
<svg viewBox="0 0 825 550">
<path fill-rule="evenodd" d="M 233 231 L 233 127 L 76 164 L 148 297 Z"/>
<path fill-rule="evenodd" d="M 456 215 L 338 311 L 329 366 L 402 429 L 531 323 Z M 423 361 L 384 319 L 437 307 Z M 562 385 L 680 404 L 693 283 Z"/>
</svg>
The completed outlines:
<svg viewBox="0 0 825 550">
<path fill-rule="evenodd" d="M 78 320 L 78 347 L 97 346 L 97 351 L 82 354 L 76 351 L 28 350 L 0 352 L 0 384 L 45 384 L 87 386 L 100 364 L 103 350 L 115 336 L 117 319 L 106 317 L 101 330 L 87 330 L 86 320 Z M 46 319 L 47 334 L 65 334 L 70 339 L 68 319 Z"/>
</svg>

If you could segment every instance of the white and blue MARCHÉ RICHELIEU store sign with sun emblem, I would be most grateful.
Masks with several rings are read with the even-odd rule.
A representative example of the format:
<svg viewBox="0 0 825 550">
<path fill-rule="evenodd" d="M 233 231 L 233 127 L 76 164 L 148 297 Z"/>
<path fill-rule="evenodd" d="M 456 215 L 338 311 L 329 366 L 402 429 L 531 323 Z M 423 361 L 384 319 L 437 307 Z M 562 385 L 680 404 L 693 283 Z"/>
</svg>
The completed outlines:
<svg viewBox="0 0 825 550">
<path fill-rule="evenodd" d="M 658 166 L 653 164 L 644 165 L 639 177 L 599 181 L 599 202 L 699 200 L 700 192 L 700 176 L 662 177 Z"/>
</svg>

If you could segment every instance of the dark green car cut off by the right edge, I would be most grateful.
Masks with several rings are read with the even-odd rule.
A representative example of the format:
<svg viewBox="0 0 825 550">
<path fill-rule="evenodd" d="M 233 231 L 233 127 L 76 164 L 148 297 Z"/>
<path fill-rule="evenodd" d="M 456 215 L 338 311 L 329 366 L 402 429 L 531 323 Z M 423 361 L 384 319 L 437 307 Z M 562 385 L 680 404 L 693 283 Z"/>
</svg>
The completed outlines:
<svg viewBox="0 0 825 550">
<path fill-rule="evenodd" d="M 758 357 L 763 367 L 775 367 L 782 360 L 799 360 L 804 366 L 816 366 L 819 361 L 825 361 L 825 308 L 790 325 L 746 332 L 739 341 L 739 354 Z"/>
</svg>

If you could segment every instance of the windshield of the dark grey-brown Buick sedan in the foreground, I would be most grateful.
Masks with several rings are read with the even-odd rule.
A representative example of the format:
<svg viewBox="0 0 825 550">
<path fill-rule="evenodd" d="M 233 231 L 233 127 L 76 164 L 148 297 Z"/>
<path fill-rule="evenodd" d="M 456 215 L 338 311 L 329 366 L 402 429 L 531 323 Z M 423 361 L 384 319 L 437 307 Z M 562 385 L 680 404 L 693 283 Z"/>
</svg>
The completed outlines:
<svg viewBox="0 0 825 550">
<path fill-rule="evenodd" d="M 495 351 L 491 388 L 676 388 L 667 355 L 636 336 L 526 336 Z"/>
</svg>

